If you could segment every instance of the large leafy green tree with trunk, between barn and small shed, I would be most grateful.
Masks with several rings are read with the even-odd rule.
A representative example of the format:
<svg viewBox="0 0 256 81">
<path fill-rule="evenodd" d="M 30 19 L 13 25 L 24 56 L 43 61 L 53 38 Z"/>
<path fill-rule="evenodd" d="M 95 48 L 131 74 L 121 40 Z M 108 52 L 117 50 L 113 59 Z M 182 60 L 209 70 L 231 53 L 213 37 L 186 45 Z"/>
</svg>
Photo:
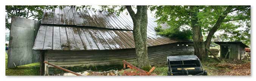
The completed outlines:
<svg viewBox="0 0 256 81">
<path fill-rule="evenodd" d="M 195 55 L 199 58 L 208 56 L 206 49 L 218 30 L 233 38 L 250 39 L 250 6 L 152 6 L 150 9 L 156 10 L 159 23 L 167 22 L 171 27 L 189 26 Z M 237 31 L 239 27 L 246 30 Z M 203 36 L 207 36 L 205 41 Z"/>
</svg>

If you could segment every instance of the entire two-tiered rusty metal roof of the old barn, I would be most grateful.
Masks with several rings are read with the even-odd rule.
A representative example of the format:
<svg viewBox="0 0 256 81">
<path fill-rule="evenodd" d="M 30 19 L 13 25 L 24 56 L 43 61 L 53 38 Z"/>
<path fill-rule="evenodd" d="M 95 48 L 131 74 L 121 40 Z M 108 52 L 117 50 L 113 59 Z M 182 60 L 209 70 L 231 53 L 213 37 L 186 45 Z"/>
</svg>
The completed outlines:
<svg viewBox="0 0 256 81">
<path fill-rule="evenodd" d="M 107 11 L 74 12 L 73 9 L 44 12 L 33 49 L 35 50 L 108 50 L 135 48 L 133 23 L 129 15 Z M 183 40 L 157 35 L 155 18 L 148 18 L 147 45 L 156 46 Z M 163 29 L 167 24 L 160 24 Z"/>
</svg>

